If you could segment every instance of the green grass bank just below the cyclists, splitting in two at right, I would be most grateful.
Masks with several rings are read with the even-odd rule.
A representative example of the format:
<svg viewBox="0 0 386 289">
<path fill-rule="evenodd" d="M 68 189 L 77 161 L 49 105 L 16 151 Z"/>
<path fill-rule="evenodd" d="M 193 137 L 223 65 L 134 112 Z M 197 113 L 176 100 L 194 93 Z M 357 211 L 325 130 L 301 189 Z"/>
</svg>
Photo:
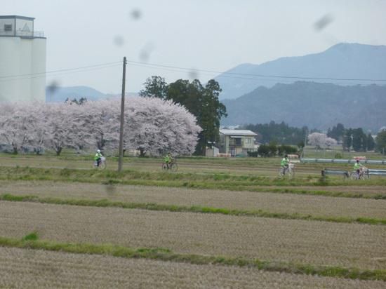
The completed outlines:
<svg viewBox="0 0 386 289">
<path fill-rule="evenodd" d="M 190 189 L 226 189 L 229 191 L 258 191 L 279 194 L 302 194 L 314 196 L 333 196 L 345 198 L 386 199 L 386 194 L 362 194 L 343 191 L 325 191 L 292 188 L 295 186 L 313 185 L 340 185 L 340 182 L 321 182 L 318 179 L 310 180 L 280 180 L 267 177 L 227 174 L 192 174 L 192 173 L 143 173 L 135 170 L 124 170 L 117 173 L 111 170 L 70 170 L 70 169 L 45 169 L 45 168 L 5 168 L 0 167 L 0 180 L 14 181 L 59 181 L 59 182 L 83 182 L 102 184 L 127 184 L 157 187 L 183 187 Z M 383 180 L 382 180 L 383 181 Z M 350 184 L 375 184 L 368 182 L 343 182 Z M 386 182 L 385 182 L 386 185 Z M 266 187 L 262 187 L 266 186 Z M 277 186 L 276 188 L 269 188 Z M 288 186 L 290 188 L 283 188 Z M 268 188 L 267 188 L 268 187 Z"/>
</svg>

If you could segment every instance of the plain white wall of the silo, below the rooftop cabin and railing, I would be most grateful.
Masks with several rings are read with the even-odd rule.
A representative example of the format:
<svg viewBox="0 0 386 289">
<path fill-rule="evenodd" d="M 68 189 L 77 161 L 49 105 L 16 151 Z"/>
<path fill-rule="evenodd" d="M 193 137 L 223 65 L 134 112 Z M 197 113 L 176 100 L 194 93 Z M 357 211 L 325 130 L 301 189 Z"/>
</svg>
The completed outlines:
<svg viewBox="0 0 386 289">
<path fill-rule="evenodd" d="M 21 75 L 0 79 L 0 101 L 45 101 L 46 76 L 36 73 L 46 72 L 46 39 L 1 36 L 0 63 L 0 76 Z"/>
</svg>

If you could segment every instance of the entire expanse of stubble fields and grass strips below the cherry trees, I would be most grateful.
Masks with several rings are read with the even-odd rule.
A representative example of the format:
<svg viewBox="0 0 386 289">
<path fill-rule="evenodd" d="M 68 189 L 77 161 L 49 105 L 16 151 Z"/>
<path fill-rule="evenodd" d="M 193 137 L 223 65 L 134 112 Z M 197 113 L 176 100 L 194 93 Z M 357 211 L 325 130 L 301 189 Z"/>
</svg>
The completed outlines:
<svg viewBox="0 0 386 289">
<path fill-rule="evenodd" d="M 278 159 L 260 158 L 179 159 L 175 174 L 127 158 L 117 174 L 107 161 L 0 155 L 0 288 L 386 287 L 381 177 L 325 181 L 307 163 L 280 180 Z"/>
</svg>

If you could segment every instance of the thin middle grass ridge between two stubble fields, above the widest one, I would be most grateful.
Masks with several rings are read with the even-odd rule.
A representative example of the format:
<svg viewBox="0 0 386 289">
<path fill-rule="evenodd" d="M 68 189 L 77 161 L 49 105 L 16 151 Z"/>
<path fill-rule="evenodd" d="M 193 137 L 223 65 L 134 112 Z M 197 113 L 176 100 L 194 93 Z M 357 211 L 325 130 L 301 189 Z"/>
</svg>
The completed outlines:
<svg viewBox="0 0 386 289">
<path fill-rule="evenodd" d="M 120 201 L 109 201 L 107 199 L 88 200 L 88 199 L 58 199 L 58 198 L 41 198 L 39 196 L 25 195 L 15 196 L 12 194 L 1 194 L 0 201 L 18 201 L 18 202 L 35 202 L 49 203 L 55 205 L 71 205 L 71 206 L 86 206 L 86 207 L 101 207 L 101 208 L 125 208 L 125 209 L 142 209 L 142 210 L 157 210 L 168 212 L 189 212 L 189 213 L 211 213 L 232 216 L 250 216 L 250 217 L 272 217 L 277 219 L 288 220 L 310 220 L 338 223 L 358 223 L 358 224 L 375 224 L 386 225 L 386 220 L 368 218 L 368 217 L 324 217 L 301 215 L 298 213 L 272 213 L 265 210 L 238 210 L 229 208 L 213 208 L 204 206 L 180 206 L 167 205 L 159 203 L 128 203 Z"/>
</svg>

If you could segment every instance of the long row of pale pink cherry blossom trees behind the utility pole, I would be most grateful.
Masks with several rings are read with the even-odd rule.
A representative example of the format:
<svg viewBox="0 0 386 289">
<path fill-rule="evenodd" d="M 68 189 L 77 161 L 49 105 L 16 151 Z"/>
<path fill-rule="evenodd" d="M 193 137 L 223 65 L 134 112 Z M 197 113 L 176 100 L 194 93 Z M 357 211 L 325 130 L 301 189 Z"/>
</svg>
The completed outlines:
<svg viewBox="0 0 386 289">
<path fill-rule="evenodd" d="M 0 104 L 0 144 L 14 153 L 23 147 L 53 149 L 60 154 L 74 149 L 118 149 L 118 99 L 66 103 Z M 127 98 L 124 142 L 126 149 L 142 154 L 165 152 L 189 155 L 201 128 L 185 107 L 159 98 Z"/>
</svg>

